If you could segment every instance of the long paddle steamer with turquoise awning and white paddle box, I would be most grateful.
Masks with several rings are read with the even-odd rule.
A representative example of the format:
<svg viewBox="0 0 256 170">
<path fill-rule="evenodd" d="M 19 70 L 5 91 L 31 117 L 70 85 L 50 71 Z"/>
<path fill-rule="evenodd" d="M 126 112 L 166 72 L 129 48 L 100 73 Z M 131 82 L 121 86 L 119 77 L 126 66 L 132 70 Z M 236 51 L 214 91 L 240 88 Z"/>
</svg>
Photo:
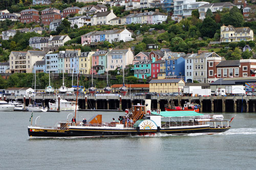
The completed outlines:
<svg viewBox="0 0 256 170">
<path fill-rule="evenodd" d="M 195 111 L 146 111 L 147 105 L 133 105 L 132 110 L 119 116 L 119 122 L 103 123 L 102 115 L 95 115 L 86 124 L 68 121 L 54 127 L 28 126 L 30 137 L 110 137 L 189 133 L 214 134 L 230 129 L 229 120 L 222 115 L 204 119 Z M 131 123 L 133 122 L 133 123 Z"/>
</svg>

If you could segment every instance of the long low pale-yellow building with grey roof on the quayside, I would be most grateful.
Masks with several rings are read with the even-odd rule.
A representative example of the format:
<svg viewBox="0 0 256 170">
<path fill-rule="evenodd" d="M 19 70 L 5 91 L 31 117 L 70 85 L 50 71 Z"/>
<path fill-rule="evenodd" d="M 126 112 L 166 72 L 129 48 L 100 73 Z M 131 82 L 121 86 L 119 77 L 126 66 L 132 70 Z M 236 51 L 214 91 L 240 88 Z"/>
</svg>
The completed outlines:
<svg viewBox="0 0 256 170">
<path fill-rule="evenodd" d="M 182 79 L 153 79 L 150 81 L 150 92 L 182 92 L 185 82 Z"/>
</svg>

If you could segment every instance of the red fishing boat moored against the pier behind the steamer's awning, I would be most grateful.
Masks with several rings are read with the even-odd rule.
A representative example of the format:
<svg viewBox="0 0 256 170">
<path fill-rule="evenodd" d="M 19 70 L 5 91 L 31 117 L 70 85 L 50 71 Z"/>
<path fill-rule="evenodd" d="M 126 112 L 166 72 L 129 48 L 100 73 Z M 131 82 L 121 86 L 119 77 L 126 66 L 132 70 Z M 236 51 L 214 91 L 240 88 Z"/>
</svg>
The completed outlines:
<svg viewBox="0 0 256 170">
<path fill-rule="evenodd" d="M 201 106 L 196 103 L 185 102 L 183 107 L 175 106 L 172 100 L 171 104 L 164 105 L 165 111 L 195 111 L 200 112 Z"/>
</svg>

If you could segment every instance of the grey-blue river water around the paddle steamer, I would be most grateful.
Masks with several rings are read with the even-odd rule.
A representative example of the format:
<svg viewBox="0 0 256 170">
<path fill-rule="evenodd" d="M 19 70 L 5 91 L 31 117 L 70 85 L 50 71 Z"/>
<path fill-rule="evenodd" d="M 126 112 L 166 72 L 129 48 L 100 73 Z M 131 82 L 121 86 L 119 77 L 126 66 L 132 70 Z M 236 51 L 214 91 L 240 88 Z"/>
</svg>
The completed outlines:
<svg viewBox="0 0 256 170">
<path fill-rule="evenodd" d="M 53 126 L 72 112 L 34 113 L 37 125 Z M 74 112 L 73 112 L 74 113 Z M 122 112 L 81 112 L 77 120 Z M 82 139 L 30 139 L 30 112 L 0 112 L 0 169 L 255 169 L 256 114 L 236 117 L 221 134 Z M 71 116 L 69 117 L 71 120 Z"/>
</svg>

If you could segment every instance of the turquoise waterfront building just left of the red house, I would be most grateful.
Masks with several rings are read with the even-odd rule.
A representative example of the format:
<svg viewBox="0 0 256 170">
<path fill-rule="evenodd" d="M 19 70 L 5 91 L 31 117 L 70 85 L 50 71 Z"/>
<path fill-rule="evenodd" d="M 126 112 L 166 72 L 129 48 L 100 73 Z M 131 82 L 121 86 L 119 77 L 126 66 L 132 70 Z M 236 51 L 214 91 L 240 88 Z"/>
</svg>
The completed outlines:
<svg viewBox="0 0 256 170">
<path fill-rule="evenodd" d="M 134 64 L 134 77 L 146 79 L 151 77 L 151 60 L 140 60 Z"/>
</svg>

